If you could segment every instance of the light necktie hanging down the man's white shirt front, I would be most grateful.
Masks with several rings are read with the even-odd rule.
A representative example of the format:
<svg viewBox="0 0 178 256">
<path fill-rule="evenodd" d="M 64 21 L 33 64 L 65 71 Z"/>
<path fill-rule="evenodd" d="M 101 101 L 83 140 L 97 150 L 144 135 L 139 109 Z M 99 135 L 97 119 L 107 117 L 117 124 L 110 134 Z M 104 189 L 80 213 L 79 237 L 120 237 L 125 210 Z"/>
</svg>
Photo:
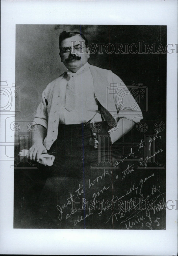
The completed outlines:
<svg viewBox="0 0 178 256">
<path fill-rule="evenodd" d="M 65 109 L 71 111 L 75 108 L 75 81 L 74 75 L 69 74 L 69 81 L 66 86 L 66 104 Z"/>
</svg>

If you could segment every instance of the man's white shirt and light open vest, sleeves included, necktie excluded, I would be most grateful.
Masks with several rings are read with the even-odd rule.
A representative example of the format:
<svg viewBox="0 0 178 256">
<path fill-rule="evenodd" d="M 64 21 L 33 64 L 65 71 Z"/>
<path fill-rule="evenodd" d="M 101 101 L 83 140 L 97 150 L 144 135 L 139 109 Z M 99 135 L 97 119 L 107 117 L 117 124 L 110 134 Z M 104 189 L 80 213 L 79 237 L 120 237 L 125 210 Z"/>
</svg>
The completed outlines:
<svg viewBox="0 0 178 256">
<path fill-rule="evenodd" d="M 65 101 L 70 73 L 67 71 L 48 84 L 42 93 L 42 100 L 36 111 L 34 122 L 47 129 L 47 136 L 43 142 L 46 149 L 49 150 L 57 139 L 59 123 L 79 124 L 88 122 L 90 119 L 92 119 L 91 122 L 102 121 L 100 113 L 97 112 L 97 102 L 111 114 L 116 122 L 120 118 L 131 120 L 134 123 L 143 119 L 141 109 L 123 81 L 110 70 L 88 63 L 76 73 L 72 73 L 76 98 L 74 109 L 68 111 L 65 109 Z M 107 119 L 107 121 L 111 120 Z M 115 137 L 118 136 L 119 130 L 110 130 L 112 142 L 116 141 Z"/>
</svg>

